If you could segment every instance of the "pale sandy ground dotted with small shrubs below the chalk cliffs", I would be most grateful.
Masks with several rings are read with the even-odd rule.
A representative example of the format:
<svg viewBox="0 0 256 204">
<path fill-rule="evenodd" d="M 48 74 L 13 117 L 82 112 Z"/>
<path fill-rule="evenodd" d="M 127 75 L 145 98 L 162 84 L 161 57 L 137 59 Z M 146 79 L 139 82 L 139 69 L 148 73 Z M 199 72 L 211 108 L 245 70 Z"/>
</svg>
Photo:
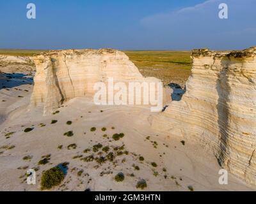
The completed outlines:
<svg viewBox="0 0 256 204">
<path fill-rule="evenodd" d="M 63 162 L 69 163 L 67 175 L 61 186 L 52 191 L 138 191 L 136 184 L 140 179 L 147 181 L 145 191 L 189 191 L 188 186 L 195 191 L 253 190 L 232 175 L 228 177 L 228 185 L 218 184 L 221 168 L 213 154 L 187 141 L 182 145 L 172 135 L 154 132 L 150 128 L 150 115 L 156 113 L 149 108 L 96 106 L 91 99 L 76 98 L 61 106 L 60 113 L 43 117 L 40 108 L 29 108 L 33 91 L 29 78 L 26 75 L 1 78 L 1 191 L 40 191 L 42 171 Z M 51 124 L 52 120 L 58 122 Z M 71 125 L 66 124 L 68 120 L 72 121 Z M 90 131 L 92 127 L 97 130 Z M 25 133 L 26 128 L 33 131 Z M 64 136 L 67 131 L 73 131 L 74 135 Z M 112 139 L 115 133 L 125 136 L 115 141 Z M 104 137 L 105 134 L 108 136 Z M 101 149 L 92 152 L 93 145 L 98 143 L 108 146 L 109 152 L 129 153 L 116 156 L 114 163 L 81 160 L 91 154 L 104 156 Z M 68 149 L 70 144 L 76 144 L 76 149 Z M 60 145 L 62 149 L 58 148 Z M 123 145 L 123 149 L 114 150 Z M 85 149 L 91 152 L 84 153 Z M 51 154 L 49 163 L 39 165 L 42 156 L 48 154 Z M 25 156 L 31 159 L 24 160 Z M 140 161 L 140 156 L 145 160 Z M 153 167 L 152 162 L 157 167 Z M 34 186 L 26 184 L 25 174 L 29 168 L 37 169 Z M 114 180 L 119 172 L 125 175 L 123 182 Z"/>
</svg>

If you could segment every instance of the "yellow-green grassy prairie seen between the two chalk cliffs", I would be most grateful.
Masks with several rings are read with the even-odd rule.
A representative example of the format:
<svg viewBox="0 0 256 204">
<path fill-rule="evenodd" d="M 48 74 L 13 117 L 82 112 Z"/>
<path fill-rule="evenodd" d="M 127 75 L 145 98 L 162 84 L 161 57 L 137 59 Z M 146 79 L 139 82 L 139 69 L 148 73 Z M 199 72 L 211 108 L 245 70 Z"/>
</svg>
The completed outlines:
<svg viewBox="0 0 256 204">
<path fill-rule="evenodd" d="M 184 87 L 191 73 L 189 51 L 125 51 L 145 77 L 160 78 L 164 85 Z"/>
</svg>

